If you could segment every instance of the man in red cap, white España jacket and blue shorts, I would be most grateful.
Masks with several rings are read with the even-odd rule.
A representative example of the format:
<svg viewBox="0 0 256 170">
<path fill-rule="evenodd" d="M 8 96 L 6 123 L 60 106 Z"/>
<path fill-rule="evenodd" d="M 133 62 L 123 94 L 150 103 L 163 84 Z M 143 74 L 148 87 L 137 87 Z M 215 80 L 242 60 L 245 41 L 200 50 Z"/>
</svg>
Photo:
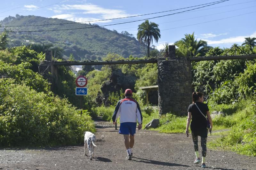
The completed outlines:
<svg viewBox="0 0 256 170">
<path fill-rule="evenodd" d="M 118 101 L 112 120 L 115 125 L 116 119 L 120 115 L 119 134 L 124 135 L 124 145 L 127 151 L 126 159 L 132 160 L 132 148 L 134 145 L 137 119 L 139 123 L 138 130 L 140 130 L 142 128 L 142 114 L 138 102 L 132 98 L 132 90 L 126 89 L 124 96 L 124 99 Z"/>
</svg>

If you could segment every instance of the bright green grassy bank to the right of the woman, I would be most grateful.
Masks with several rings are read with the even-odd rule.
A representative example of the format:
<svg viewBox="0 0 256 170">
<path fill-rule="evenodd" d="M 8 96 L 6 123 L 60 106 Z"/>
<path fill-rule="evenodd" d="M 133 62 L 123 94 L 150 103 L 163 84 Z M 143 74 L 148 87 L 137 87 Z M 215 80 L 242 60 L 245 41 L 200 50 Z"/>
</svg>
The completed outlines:
<svg viewBox="0 0 256 170">
<path fill-rule="evenodd" d="M 249 100 L 245 102 L 245 108 L 240 108 L 233 115 L 214 120 L 216 124 L 223 123 L 224 127 L 230 126 L 230 131 L 220 134 L 220 138 L 207 143 L 210 148 L 256 156 L 256 116 L 250 102 Z"/>
</svg>

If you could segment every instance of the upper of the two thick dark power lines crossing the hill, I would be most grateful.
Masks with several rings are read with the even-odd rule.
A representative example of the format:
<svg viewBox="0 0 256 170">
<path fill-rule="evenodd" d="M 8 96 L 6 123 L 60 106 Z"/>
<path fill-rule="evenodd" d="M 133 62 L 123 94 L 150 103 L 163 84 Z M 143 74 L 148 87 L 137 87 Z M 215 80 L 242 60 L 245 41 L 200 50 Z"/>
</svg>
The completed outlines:
<svg viewBox="0 0 256 170">
<path fill-rule="evenodd" d="M 215 2 L 207 3 L 207 4 L 213 4 L 213 3 L 218 4 L 218 3 L 222 3 L 222 2 L 226 2 L 226 1 L 229 1 L 229 0 L 215 1 Z M 187 8 L 192 8 L 192 7 L 202 6 L 202 5 L 207 5 L 207 4 L 200 4 L 200 5 L 189 6 L 189 7 L 179 8 L 179 9 L 174 9 L 174 10 L 169 10 L 169 11 L 154 12 L 154 13 L 141 14 L 141 15 L 134 15 L 134 16 L 129 16 L 129 17 L 121 17 L 121 18 L 102 19 L 102 20 L 83 21 L 83 22 L 69 22 L 69 23 L 59 23 L 59 24 L 38 24 L 38 25 L 5 26 L 5 27 L 31 27 L 31 26 L 64 25 L 64 24 L 77 24 L 77 23 L 84 23 L 84 22 L 97 22 L 97 21 L 106 21 L 106 20 L 114 20 L 114 19 L 124 19 L 124 18 L 132 18 L 132 17 L 139 17 L 139 16 L 145 16 L 145 15 L 152 15 L 152 14 L 163 13 L 163 12 L 177 11 L 177 10 L 181 10 L 181 9 L 187 9 Z"/>
</svg>

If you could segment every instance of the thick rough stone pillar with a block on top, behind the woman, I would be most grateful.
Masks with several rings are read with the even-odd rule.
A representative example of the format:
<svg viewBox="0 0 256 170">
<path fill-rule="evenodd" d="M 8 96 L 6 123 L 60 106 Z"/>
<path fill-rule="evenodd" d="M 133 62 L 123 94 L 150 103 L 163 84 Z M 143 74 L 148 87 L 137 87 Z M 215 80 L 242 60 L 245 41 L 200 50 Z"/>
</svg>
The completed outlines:
<svg viewBox="0 0 256 170">
<path fill-rule="evenodd" d="M 189 58 L 176 58 L 173 54 L 175 50 L 173 52 L 173 46 L 169 46 L 169 58 L 173 59 L 158 59 L 159 114 L 186 115 L 188 105 L 192 103 L 191 62 Z"/>
</svg>

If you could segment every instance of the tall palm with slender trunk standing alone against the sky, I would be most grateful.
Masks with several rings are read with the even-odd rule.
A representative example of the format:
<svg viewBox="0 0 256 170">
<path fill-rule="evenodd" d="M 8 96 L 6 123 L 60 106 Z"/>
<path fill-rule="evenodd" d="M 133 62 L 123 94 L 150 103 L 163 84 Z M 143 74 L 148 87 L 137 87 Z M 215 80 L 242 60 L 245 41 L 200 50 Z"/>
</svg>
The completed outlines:
<svg viewBox="0 0 256 170">
<path fill-rule="evenodd" d="M 137 39 L 140 43 L 146 44 L 148 46 L 148 57 L 149 57 L 149 48 L 150 43 L 153 43 L 153 39 L 155 39 L 156 43 L 158 39 L 161 37 L 160 29 L 158 28 L 158 24 L 154 22 L 148 22 L 148 19 L 145 22 L 141 23 L 138 26 Z"/>
</svg>

